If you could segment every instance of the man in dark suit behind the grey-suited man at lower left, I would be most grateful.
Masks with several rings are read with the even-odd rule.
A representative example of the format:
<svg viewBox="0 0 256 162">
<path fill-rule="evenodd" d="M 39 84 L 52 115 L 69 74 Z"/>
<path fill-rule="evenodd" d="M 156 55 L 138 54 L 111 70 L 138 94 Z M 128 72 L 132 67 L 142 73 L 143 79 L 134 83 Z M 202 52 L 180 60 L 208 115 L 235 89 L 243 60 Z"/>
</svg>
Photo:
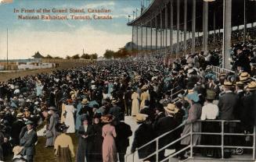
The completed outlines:
<svg viewBox="0 0 256 162">
<path fill-rule="evenodd" d="M 25 126 L 25 123 L 23 122 L 22 118 L 23 118 L 23 113 L 17 114 L 16 121 L 13 122 L 13 125 L 12 125 L 11 136 L 13 138 L 13 146 L 17 146 L 20 144 L 20 132 L 21 132 L 21 129 Z"/>
</svg>

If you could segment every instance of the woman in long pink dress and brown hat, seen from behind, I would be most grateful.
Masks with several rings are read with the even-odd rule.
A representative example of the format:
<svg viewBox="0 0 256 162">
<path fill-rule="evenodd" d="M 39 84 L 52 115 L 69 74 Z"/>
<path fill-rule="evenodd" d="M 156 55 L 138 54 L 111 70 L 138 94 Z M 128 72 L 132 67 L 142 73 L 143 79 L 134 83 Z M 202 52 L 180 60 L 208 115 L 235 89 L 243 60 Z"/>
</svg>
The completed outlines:
<svg viewBox="0 0 256 162">
<path fill-rule="evenodd" d="M 114 126 L 110 123 L 113 121 L 112 115 L 102 117 L 103 126 L 103 162 L 117 162 L 117 147 L 114 137 L 117 136 Z"/>
</svg>

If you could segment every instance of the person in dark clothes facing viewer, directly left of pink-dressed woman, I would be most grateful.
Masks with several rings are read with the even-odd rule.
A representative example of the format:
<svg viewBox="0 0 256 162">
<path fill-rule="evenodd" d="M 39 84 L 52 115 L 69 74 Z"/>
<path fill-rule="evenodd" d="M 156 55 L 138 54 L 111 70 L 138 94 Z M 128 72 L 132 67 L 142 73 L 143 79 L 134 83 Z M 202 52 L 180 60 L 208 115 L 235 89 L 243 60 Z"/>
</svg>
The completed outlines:
<svg viewBox="0 0 256 162">
<path fill-rule="evenodd" d="M 92 161 L 92 145 L 93 145 L 93 127 L 89 125 L 88 115 L 84 114 L 81 116 L 82 125 L 78 129 L 78 153 L 77 161 L 85 162 Z"/>
</svg>

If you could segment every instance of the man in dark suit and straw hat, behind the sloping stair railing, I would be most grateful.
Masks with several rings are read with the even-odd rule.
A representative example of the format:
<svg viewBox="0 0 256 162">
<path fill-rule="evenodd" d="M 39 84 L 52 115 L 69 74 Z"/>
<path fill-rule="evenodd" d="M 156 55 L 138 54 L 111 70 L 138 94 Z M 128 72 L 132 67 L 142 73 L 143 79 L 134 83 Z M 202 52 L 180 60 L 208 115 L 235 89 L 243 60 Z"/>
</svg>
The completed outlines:
<svg viewBox="0 0 256 162">
<path fill-rule="evenodd" d="M 160 118 L 154 125 L 154 129 L 157 132 L 157 136 L 163 135 L 165 132 L 169 132 L 172 129 L 175 129 L 178 126 L 178 123 L 175 121 L 174 115 L 178 112 L 178 108 L 175 104 L 168 104 L 167 107 L 164 107 L 166 117 Z M 176 137 L 174 133 L 169 133 L 159 140 L 159 149 L 164 147 L 167 143 L 175 141 Z M 175 146 L 169 146 L 166 149 L 175 149 Z M 164 160 L 164 150 L 159 153 L 159 160 Z"/>
</svg>

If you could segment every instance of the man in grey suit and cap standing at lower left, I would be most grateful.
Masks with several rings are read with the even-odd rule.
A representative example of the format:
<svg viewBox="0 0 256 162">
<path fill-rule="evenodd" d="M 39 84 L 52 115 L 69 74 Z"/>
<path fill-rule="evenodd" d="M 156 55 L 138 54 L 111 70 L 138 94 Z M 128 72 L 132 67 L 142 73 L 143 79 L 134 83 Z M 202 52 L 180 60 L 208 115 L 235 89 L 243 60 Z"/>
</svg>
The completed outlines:
<svg viewBox="0 0 256 162">
<path fill-rule="evenodd" d="M 33 129 L 33 122 L 27 121 L 27 131 L 24 133 L 24 136 L 20 139 L 20 146 L 23 146 L 22 154 L 27 156 L 27 162 L 33 162 L 35 154 L 34 144 L 38 141 L 37 132 Z"/>
</svg>

